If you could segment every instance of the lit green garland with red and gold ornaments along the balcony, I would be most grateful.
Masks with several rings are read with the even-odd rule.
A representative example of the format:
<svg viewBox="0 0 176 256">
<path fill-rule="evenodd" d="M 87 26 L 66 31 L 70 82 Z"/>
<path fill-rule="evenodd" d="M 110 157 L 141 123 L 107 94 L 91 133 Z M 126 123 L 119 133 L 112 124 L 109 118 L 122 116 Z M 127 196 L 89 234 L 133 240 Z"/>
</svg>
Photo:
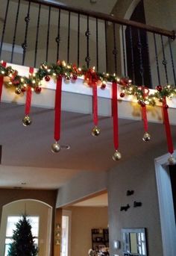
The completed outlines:
<svg viewBox="0 0 176 256">
<path fill-rule="evenodd" d="M 94 68 L 87 69 L 86 67 L 78 68 L 76 65 L 66 64 L 66 62 L 57 61 L 57 64 L 49 64 L 43 62 L 37 72 L 29 75 L 29 77 L 19 75 L 16 69 L 11 66 L 4 67 L 0 64 L 0 75 L 7 77 L 8 87 L 15 87 L 17 94 L 25 93 L 26 87 L 32 87 L 36 93 L 41 91 L 41 81 L 45 78 L 45 81 L 49 81 L 50 78 L 57 78 L 62 76 L 66 82 L 70 80 L 75 81 L 78 77 L 84 78 L 84 84 L 97 86 L 104 89 L 107 82 L 116 82 L 120 85 L 120 96 L 123 98 L 125 95 L 131 95 L 136 97 L 137 102 L 141 106 L 149 104 L 154 106 L 157 102 L 163 102 L 166 97 L 172 98 L 176 96 L 176 87 L 174 85 L 158 85 L 154 93 L 150 94 L 147 87 L 138 87 L 131 83 L 128 78 L 117 78 L 116 75 L 109 75 L 105 73 L 95 72 Z"/>
</svg>

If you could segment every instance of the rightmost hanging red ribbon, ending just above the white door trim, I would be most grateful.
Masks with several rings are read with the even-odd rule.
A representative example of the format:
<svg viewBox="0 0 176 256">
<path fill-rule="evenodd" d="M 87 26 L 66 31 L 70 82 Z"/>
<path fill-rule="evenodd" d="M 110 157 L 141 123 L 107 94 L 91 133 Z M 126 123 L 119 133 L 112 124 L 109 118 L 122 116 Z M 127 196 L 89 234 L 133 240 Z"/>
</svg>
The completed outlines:
<svg viewBox="0 0 176 256">
<path fill-rule="evenodd" d="M 166 129 L 168 151 L 170 154 L 173 154 L 174 147 L 173 147 L 173 143 L 172 143 L 172 134 L 171 134 L 171 127 L 170 127 L 170 123 L 169 123 L 168 107 L 166 107 L 166 97 L 163 98 L 163 116 L 164 116 L 164 124 L 165 124 L 165 129 Z"/>
</svg>

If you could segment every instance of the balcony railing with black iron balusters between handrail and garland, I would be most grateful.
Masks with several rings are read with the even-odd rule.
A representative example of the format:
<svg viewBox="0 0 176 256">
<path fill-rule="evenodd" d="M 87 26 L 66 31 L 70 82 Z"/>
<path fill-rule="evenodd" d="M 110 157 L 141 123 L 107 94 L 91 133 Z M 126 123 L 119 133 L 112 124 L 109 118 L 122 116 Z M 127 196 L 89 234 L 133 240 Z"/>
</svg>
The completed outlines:
<svg viewBox="0 0 176 256">
<path fill-rule="evenodd" d="M 175 33 L 55 1 L 7 0 L 0 10 L 0 59 L 40 66 L 58 59 L 133 84 L 176 84 Z"/>
</svg>

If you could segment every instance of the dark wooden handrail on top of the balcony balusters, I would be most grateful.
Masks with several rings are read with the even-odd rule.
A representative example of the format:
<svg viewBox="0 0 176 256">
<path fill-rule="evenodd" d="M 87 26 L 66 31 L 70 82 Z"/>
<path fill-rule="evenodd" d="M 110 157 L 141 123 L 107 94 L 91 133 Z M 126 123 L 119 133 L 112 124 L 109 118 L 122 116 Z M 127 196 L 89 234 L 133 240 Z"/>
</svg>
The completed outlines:
<svg viewBox="0 0 176 256">
<path fill-rule="evenodd" d="M 109 14 L 106 13 L 99 13 L 99 12 L 95 12 L 93 10 L 84 10 L 82 8 L 78 8 L 78 7 L 70 7 L 66 4 L 54 1 L 54 0 L 25 0 L 25 1 L 31 1 L 37 4 L 43 4 L 46 6 L 51 6 L 51 7 L 55 7 L 61 10 L 69 10 L 72 13 L 80 13 L 82 15 L 86 15 L 86 16 L 90 16 L 93 18 L 97 18 L 97 19 L 103 19 L 106 20 L 108 22 L 114 22 L 120 25 L 128 25 L 128 26 L 132 26 L 135 28 L 140 28 L 143 29 L 145 31 L 149 31 L 155 34 L 160 34 L 166 37 L 170 37 L 173 40 L 175 39 L 175 31 L 169 31 L 163 28 L 157 28 L 151 25 L 145 25 L 143 23 L 140 22 L 133 22 L 131 20 L 128 19 L 122 19 L 122 18 L 118 18 L 116 16 L 111 16 Z"/>
</svg>

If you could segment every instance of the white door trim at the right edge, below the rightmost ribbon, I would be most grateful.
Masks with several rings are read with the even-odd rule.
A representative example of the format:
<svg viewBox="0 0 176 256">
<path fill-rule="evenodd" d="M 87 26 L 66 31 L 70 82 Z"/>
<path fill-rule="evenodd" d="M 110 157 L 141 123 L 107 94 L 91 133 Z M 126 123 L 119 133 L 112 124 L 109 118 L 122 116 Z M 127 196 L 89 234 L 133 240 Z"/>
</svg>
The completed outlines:
<svg viewBox="0 0 176 256">
<path fill-rule="evenodd" d="M 163 256 L 175 256 L 176 252 L 175 210 L 169 168 L 167 165 L 169 156 L 169 154 L 165 154 L 154 160 L 160 208 Z"/>
</svg>

